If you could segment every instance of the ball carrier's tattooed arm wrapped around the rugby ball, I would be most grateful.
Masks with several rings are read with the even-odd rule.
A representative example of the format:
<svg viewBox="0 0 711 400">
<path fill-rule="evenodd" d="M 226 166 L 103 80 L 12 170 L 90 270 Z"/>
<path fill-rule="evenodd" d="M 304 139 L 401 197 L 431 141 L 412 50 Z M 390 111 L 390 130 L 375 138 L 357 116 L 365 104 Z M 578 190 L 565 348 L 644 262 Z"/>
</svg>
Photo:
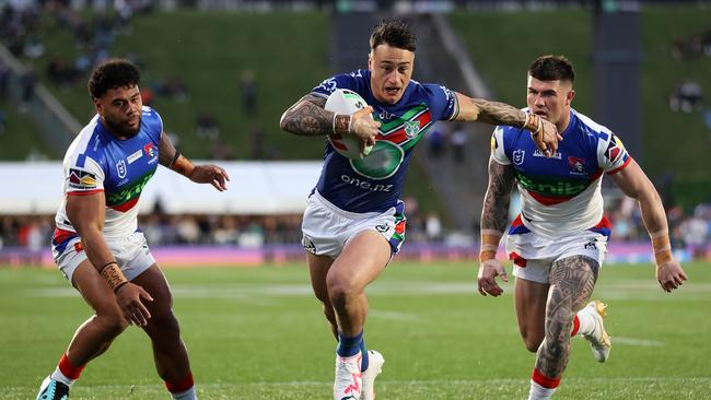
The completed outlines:
<svg viewBox="0 0 711 400">
<path fill-rule="evenodd" d="M 299 136 L 325 136 L 335 133 L 356 133 L 365 144 L 375 144 L 380 122 L 372 118 L 363 118 L 373 113 L 368 106 L 352 116 L 335 114 L 324 108 L 326 98 L 307 94 L 281 116 L 279 127 Z"/>
</svg>

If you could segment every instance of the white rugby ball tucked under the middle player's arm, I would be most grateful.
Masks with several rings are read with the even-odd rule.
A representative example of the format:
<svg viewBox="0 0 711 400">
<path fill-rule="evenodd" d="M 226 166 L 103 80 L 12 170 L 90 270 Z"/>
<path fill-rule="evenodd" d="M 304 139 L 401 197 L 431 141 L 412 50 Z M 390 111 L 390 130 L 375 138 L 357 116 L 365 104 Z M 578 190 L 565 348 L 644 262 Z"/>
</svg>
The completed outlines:
<svg viewBox="0 0 711 400">
<path fill-rule="evenodd" d="M 336 114 L 352 115 L 365 107 L 368 107 L 368 103 L 358 93 L 348 89 L 337 89 L 328 96 L 324 108 Z M 371 116 L 371 118 L 373 117 Z M 339 154 L 353 160 L 361 160 L 373 150 L 372 145 L 364 145 L 363 141 L 354 133 L 329 134 L 328 141 Z"/>
</svg>

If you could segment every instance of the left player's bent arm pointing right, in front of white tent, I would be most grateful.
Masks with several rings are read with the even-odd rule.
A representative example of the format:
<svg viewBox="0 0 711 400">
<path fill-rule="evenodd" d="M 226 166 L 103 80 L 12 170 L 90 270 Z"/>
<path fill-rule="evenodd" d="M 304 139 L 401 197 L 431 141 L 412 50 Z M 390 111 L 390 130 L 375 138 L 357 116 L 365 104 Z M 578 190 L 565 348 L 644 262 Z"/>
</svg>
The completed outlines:
<svg viewBox="0 0 711 400">
<path fill-rule="evenodd" d="M 165 132 L 161 133 L 158 161 L 161 165 L 186 176 L 197 184 L 210 184 L 219 191 L 228 190 L 230 175 L 222 167 L 212 164 L 194 165 L 186 156 L 175 149 Z"/>
</svg>

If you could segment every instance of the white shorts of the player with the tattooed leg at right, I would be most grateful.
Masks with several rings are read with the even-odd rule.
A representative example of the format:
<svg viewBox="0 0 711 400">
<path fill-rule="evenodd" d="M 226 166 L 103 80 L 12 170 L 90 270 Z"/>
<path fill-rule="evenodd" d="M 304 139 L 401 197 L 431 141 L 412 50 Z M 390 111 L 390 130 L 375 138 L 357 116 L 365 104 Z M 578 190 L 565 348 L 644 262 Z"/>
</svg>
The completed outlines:
<svg viewBox="0 0 711 400">
<path fill-rule="evenodd" d="M 576 235 L 546 238 L 523 225 L 516 226 L 514 221 L 506 237 L 506 255 L 513 260 L 513 274 L 526 281 L 548 283 L 552 263 L 573 256 L 590 257 L 602 268 L 609 231 L 601 231 L 596 227 Z"/>
</svg>

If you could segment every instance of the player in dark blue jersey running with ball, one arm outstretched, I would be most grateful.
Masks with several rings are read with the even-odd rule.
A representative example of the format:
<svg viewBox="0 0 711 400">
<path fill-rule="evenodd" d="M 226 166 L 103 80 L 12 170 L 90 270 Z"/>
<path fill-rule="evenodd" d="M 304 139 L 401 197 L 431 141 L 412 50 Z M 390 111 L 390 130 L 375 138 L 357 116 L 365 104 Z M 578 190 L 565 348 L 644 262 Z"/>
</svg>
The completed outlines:
<svg viewBox="0 0 711 400">
<path fill-rule="evenodd" d="M 382 21 L 370 38 L 368 70 L 325 80 L 291 106 L 281 128 L 302 136 L 353 133 L 369 156 L 349 160 L 326 144 L 320 178 L 308 198 L 302 231 L 311 282 L 338 340 L 334 399 L 372 400 L 383 356 L 365 350 L 365 286 L 405 238 L 399 200 L 412 149 L 436 120 L 482 121 L 525 128 L 544 152 L 555 152 L 553 125 L 506 104 L 470 98 L 411 80 L 416 38 L 409 26 Z M 370 105 L 352 116 L 324 109 L 337 89 Z M 371 119 L 370 116 L 374 119 Z M 532 133 L 526 133 L 528 138 Z"/>
</svg>

